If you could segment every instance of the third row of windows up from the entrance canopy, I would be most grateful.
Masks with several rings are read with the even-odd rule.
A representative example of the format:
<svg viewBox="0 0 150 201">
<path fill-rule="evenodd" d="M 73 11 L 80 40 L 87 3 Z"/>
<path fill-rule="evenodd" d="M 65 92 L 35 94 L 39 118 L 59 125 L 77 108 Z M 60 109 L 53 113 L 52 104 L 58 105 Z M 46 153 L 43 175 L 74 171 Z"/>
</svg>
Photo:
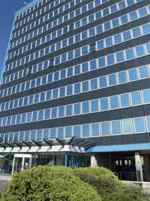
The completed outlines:
<svg viewBox="0 0 150 201">
<path fill-rule="evenodd" d="M 74 84 L 66 85 L 60 88 L 50 89 L 48 91 L 32 94 L 29 96 L 11 99 L 0 104 L 0 111 L 11 110 L 20 107 L 42 103 L 45 101 L 64 98 L 67 96 L 87 93 L 93 90 L 125 84 L 128 82 L 141 80 L 150 77 L 150 65 L 131 68 L 126 71 L 104 75 L 95 79 L 85 80 Z"/>
</svg>

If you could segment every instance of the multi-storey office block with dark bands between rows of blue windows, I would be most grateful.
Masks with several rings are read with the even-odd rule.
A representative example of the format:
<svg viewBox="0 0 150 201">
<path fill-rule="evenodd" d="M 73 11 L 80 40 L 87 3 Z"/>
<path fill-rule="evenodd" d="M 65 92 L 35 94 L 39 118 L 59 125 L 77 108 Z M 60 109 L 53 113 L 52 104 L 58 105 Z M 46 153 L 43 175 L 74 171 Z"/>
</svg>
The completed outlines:
<svg viewBox="0 0 150 201">
<path fill-rule="evenodd" d="M 15 15 L 1 85 L 5 171 L 91 161 L 150 180 L 149 83 L 149 1 L 33 1 Z"/>
</svg>

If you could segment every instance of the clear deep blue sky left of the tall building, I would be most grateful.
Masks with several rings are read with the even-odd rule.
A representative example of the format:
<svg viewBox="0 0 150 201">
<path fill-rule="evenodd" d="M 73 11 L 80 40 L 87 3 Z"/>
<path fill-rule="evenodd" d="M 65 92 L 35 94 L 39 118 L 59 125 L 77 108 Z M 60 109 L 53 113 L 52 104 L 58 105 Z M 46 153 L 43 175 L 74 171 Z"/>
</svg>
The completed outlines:
<svg viewBox="0 0 150 201">
<path fill-rule="evenodd" d="M 0 72 L 8 45 L 14 14 L 17 10 L 32 0 L 2 0 L 0 6 Z"/>
</svg>

